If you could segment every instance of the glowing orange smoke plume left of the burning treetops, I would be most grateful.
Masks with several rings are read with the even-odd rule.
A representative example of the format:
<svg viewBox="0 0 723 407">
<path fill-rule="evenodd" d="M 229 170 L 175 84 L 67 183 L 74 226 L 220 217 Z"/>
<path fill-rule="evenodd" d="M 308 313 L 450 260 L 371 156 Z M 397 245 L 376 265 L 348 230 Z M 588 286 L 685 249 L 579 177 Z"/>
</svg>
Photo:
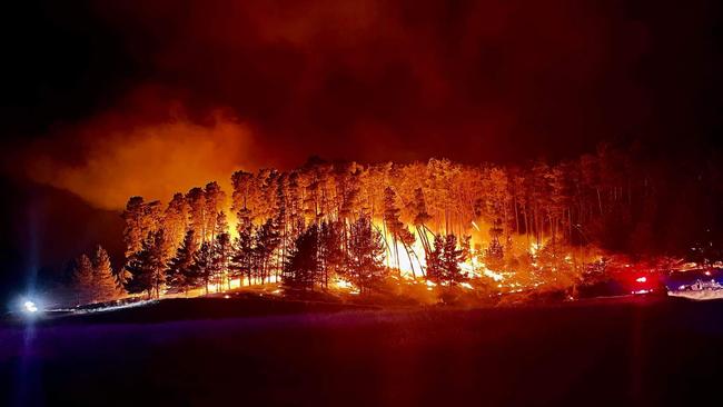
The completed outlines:
<svg viewBox="0 0 723 407">
<path fill-rule="evenodd" d="M 117 127 L 129 119 L 103 117 L 69 131 L 63 140 L 79 149 L 75 162 L 58 153 L 57 141 L 36 146 L 28 173 L 96 207 L 119 209 L 129 196 L 167 200 L 210 180 L 227 185 L 235 169 L 255 168 L 251 130 L 220 112 L 206 123 L 180 116 Z"/>
</svg>

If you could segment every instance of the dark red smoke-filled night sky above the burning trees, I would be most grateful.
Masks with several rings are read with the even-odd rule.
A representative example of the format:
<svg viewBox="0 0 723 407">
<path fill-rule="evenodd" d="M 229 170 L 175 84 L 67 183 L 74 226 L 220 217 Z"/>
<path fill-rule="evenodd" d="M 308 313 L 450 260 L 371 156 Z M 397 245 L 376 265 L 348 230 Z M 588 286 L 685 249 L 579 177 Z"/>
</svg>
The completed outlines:
<svg viewBox="0 0 723 407">
<path fill-rule="evenodd" d="M 40 145 L 49 152 L 39 163 L 31 149 L 28 168 L 36 179 L 71 190 L 112 180 L 102 173 L 145 177 L 136 166 L 175 170 L 177 160 L 156 157 L 167 149 L 148 141 L 156 139 L 188 150 L 209 139 L 229 142 L 226 170 L 291 167 L 310 155 L 360 161 L 556 159 L 591 151 L 600 141 L 631 139 L 675 150 L 681 142 L 709 140 L 720 126 L 714 2 L 90 4 L 43 10 L 43 27 L 70 53 L 53 60 L 62 76 L 46 83 L 47 76 L 38 75 L 33 80 L 41 83 L 29 86 L 36 93 L 43 89 L 32 113 L 44 113 Z M 66 88 L 73 90 L 63 93 Z M 174 106 L 185 112 L 176 121 Z M 219 108 L 232 118 L 231 130 L 212 119 Z M 53 128 L 58 122 L 65 122 L 63 131 Z M 150 136 L 159 132 L 168 136 Z M 58 155 L 59 145 L 75 148 Z M 129 161 L 129 155 L 155 158 Z M 159 170 L 157 160 L 174 165 Z M 215 175 L 200 169 L 204 162 L 184 177 L 197 173 L 197 182 Z M 155 188 L 136 182 L 133 193 Z M 167 188 L 159 191 L 150 195 L 166 195 Z M 105 207 L 119 201 L 89 199 Z"/>
</svg>

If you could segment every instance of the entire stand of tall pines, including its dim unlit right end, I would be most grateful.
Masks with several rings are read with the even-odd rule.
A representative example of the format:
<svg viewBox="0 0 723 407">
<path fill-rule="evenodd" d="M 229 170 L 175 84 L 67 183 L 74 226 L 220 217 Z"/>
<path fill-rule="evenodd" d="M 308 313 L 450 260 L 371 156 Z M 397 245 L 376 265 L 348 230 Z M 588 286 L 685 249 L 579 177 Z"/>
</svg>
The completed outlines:
<svg viewBox="0 0 723 407">
<path fill-rule="evenodd" d="M 232 279 L 310 289 L 334 276 L 370 289 L 403 264 L 412 277 L 446 284 L 469 276 L 465 262 L 574 271 L 585 258 L 571 265 L 571 247 L 658 249 L 670 212 L 664 200 L 689 180 L 664 168 L 603 146 L 524 168 L 310 160 L 291 171 L 237 171 L 230 196 L 209 182 L 165 206 L 130 198 L 126 264 L 115 279 L 128 292 L 159 296 L 166 288 L 230 287 Z M 720 190 L 712 173 L 692 179 L 701 190 Z M 534 244 L 535 252 L 514 254 L 514 240 Z"/>
</svg>

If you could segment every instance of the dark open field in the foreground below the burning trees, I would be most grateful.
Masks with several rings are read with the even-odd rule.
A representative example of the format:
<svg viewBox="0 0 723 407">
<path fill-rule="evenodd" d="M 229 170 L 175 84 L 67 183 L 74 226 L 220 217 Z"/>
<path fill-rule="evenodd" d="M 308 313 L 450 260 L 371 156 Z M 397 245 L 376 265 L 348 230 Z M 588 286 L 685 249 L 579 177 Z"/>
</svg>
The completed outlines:
<svg viewBox="0 0 723 407">
<path fill-rule="evenodd" d="M 205 311 L 218 318 L 206 320 L 171 315 L 177 302 L 0 328 L 0 404 L 646 406 L 723 397 L 723 302 L 297 304 L 265 312 L 212 304 Z M 221 310 L 229 306 L 241 310 Z"/>
</svg>

